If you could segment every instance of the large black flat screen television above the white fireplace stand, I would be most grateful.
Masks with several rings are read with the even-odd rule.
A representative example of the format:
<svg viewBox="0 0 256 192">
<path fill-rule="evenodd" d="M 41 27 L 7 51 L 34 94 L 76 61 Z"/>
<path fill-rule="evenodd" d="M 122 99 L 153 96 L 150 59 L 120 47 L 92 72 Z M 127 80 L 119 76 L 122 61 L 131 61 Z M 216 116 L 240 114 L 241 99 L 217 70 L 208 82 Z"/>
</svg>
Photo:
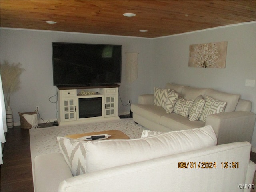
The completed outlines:
<svg viewBox="0 0 256 192">
<path fill-rule="evenodd" d="M 121 83 L 122 45 L 52 42 L 52 64 L 58 87 Z"/>
</svg>

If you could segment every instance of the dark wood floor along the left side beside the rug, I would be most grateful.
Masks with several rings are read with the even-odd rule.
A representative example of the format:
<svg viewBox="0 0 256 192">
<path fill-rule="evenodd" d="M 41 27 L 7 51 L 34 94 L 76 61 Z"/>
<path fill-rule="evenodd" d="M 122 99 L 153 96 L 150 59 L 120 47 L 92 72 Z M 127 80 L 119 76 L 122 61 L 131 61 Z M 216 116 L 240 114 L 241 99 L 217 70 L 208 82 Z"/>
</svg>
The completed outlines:
<svg viewBox="0 0 256 192">
<path fill-rule="evenodd" d="M 51 123 L 40 124 L 52 126 Z M 239 154 L 238 154 L 239 155 Z M 256 163 L 256 153 L 250 159 Z M 16 126 L 6 134 L 1 165 L 1 192 L 33 192 L 29 130 Z"/>
</svg>

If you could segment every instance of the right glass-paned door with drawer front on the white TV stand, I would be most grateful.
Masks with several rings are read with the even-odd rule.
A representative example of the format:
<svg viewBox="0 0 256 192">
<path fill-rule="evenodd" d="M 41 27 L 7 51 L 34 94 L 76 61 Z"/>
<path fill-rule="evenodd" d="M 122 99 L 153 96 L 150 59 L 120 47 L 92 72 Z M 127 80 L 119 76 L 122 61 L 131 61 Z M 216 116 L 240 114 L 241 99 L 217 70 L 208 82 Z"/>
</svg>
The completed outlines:
<svg viewBox="0 0 256 192">
<path fill-rule="evenodd" d="M 105 88 L 105 117 L 117 116 L 117 88 Z"/>
</svg>

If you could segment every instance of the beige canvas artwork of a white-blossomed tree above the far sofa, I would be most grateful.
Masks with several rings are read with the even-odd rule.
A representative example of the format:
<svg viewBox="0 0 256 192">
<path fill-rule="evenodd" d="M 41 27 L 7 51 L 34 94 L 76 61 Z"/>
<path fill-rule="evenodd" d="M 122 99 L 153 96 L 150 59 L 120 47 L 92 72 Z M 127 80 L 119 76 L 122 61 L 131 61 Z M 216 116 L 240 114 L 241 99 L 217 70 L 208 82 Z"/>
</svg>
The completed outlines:
<svg viewBox="0 0 256 192">
<path fill-rule="evenodd" d="M 188 66 L 225 68 L 227 46 L 227 41 L 190 45 Z"/>
</svg>

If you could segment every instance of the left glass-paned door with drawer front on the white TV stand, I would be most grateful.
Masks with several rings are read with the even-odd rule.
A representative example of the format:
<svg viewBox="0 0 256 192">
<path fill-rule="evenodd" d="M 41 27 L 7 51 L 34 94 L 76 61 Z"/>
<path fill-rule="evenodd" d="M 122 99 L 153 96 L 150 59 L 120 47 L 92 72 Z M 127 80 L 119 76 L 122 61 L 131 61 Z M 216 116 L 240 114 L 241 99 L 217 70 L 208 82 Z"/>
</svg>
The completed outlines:
<svg viewBox="0 0 256 192">
<path fill-rule="evenodd" d="M 62 98 L 62 121 L 76 120 L 76 90 L 65 90 Z"/>
</svg>

